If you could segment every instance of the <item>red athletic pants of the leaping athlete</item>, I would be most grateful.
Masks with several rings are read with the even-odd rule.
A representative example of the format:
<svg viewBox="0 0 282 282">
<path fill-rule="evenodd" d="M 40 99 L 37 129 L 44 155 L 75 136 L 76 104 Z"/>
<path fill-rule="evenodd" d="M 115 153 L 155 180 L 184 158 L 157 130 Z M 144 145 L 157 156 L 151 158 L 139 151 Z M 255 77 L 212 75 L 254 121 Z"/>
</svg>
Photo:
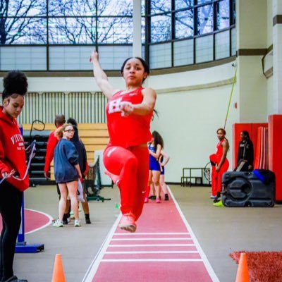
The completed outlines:
<svg viewBox="0 0 282 282">
<path fill-rule="evenodd" d="M 122 214 L 132 212 L 137 220 L 142 213 L 149 178 L 147 146 L 133 146 L 127 149 L 108 146 L 104 151 L 103 160 L 106 169 L 119 176 Z"/>
</svg>

